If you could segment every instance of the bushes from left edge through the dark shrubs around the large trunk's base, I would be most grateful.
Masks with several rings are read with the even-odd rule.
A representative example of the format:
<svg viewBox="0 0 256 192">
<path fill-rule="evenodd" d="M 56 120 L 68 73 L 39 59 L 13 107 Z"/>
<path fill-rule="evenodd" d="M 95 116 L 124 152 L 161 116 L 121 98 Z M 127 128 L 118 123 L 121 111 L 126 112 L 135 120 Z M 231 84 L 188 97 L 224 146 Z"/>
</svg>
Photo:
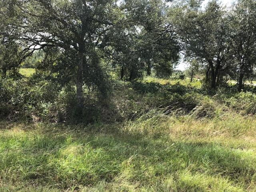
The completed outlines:
<svg viewBox="0 0 256 192">
<path fill-rule="evenodd" d="M 52 80 L 0 79 L 0 118 L 75 124 L 98 121 L 101 100 L 88 94 L 80 111 L 74 88 L 72 83 L 62 88 Z"/>
</svg>

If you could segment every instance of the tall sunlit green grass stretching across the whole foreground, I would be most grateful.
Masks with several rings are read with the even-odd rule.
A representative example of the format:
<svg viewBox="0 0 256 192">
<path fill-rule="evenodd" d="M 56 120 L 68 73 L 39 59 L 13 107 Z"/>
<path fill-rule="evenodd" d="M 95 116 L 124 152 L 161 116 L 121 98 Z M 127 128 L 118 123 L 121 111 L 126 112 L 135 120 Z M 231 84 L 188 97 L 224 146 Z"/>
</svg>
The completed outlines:
<svg viewBox="0 0 256 192">
<path fill-rule="evenodd" d="M 0 191 L 256 190 L 254 116 L 0 128 Z"/>
</svg>

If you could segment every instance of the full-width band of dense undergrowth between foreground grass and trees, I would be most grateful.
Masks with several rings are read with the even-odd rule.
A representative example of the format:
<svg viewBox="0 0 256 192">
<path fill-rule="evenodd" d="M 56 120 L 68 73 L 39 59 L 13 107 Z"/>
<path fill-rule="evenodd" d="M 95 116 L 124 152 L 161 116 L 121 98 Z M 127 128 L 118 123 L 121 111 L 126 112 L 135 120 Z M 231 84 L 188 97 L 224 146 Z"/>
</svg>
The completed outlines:
<svg viewBox="0 0 256 192">
<path fill-rule="evenodd" d="M 154 81 L 153 81 L 154 80 Z M 243 92 L 226 84 L 208 89 L 198 80 L 164 80 L 145 78 L 133 82 L 112 77 L 108 98 L 86 88 L 84 109 L 76 109 L 75 85 L 64 87 L 53 79 L 38 74 L 15 79 L 0 79 L 0 117 L 27 122 L 113 123 L 136 120 L 152 110 L 175 116 L 213 118 L 227 111 L 243 115 L 256 114 L 256 88 Z"/>
</svg>

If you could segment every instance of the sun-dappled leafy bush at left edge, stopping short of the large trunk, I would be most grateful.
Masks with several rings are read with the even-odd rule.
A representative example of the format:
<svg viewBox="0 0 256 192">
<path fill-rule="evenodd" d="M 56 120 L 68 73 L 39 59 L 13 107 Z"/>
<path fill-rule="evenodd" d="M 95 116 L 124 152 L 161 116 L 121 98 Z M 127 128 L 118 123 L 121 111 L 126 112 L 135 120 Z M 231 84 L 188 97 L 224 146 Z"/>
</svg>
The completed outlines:
<svg viewBox="0 0 256 192">
<path fill-rule="evenodd" d="M 58 94 L 58 85 L 44 80 L 0 79 L 0 116 L 17 119 L 45 118 Z"/>
</svg>

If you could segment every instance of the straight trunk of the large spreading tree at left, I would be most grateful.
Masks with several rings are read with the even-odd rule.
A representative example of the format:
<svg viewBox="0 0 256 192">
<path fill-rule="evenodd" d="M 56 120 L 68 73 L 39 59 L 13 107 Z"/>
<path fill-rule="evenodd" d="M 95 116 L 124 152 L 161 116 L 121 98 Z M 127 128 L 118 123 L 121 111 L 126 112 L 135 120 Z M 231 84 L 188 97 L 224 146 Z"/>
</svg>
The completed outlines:
<svg viewBox="0 0 256 192">
<path fill-rule="evenodd" d="M 79 49 L 78 52 L 78 57 L 79 57 L 79 61 L 78 61 L 78 68 L 77 68 L 77 79 L 76 79 L 76 98 L 78 101 L 78 108 L 80 108 L 81 110 L 84 107 L 83 104 L 83 90 L 82 90 L 82 76 L 83 76 L 83 47 L 81 47 Z"/>
</svg>

